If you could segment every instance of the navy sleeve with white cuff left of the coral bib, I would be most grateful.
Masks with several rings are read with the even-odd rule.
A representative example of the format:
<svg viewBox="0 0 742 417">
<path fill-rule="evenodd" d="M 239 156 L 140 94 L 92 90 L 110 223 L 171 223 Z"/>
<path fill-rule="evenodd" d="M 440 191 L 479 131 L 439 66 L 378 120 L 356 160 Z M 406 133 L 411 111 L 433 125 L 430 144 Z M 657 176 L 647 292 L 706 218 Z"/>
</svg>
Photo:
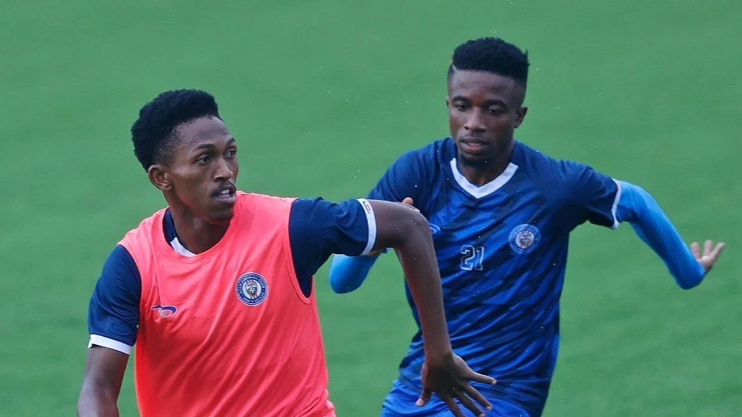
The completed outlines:
<svg viewBox="0 0 742 417">
<path fill-rule="evenodd" d="M 116 246 L 106 259 L 88 310 L 90 345 L 131 353 L 139 327 L 142 278 L 125 247 Z"/>
</svg>

